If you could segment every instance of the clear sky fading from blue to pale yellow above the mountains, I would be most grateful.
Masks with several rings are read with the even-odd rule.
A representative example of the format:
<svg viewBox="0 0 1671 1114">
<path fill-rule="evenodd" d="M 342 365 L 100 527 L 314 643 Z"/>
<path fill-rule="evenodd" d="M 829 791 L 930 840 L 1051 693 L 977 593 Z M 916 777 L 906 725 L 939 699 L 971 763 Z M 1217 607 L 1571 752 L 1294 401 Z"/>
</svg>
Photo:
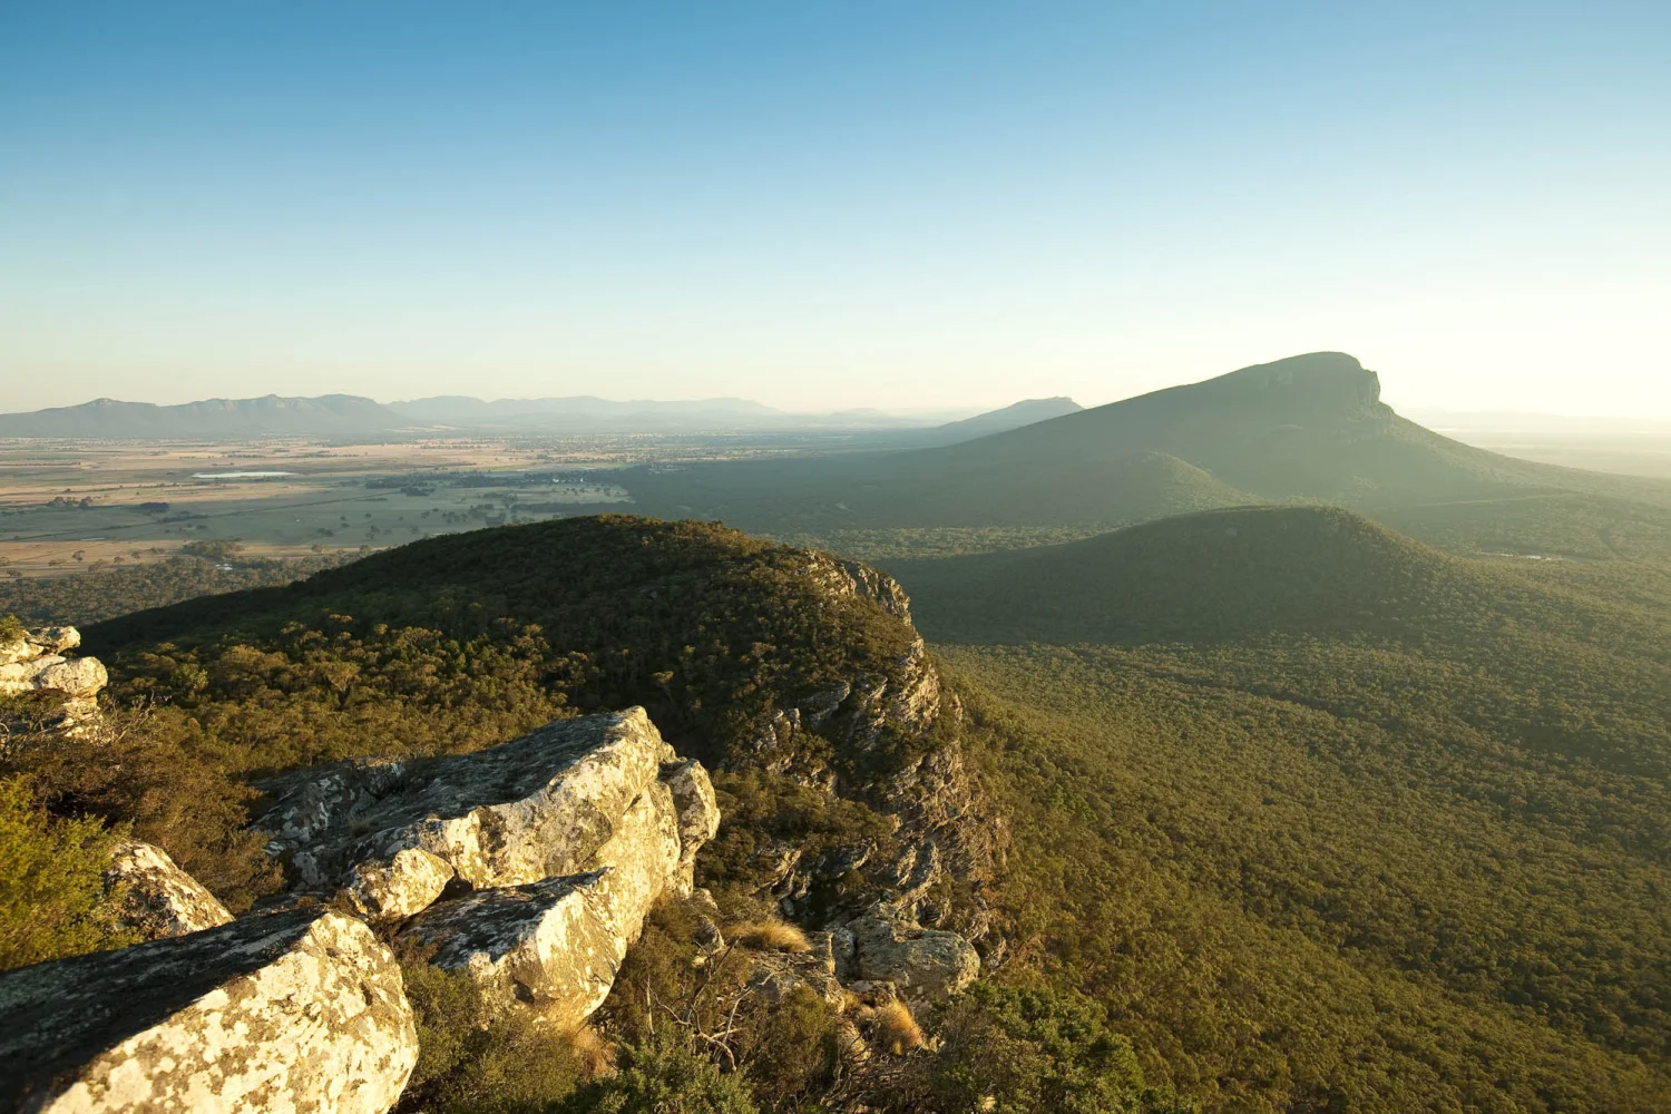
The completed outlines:
<svg viewBox="0 0 1671 1114">
<path fill-rule="evenodd" d="M 0 409 L 1671 416 L 1671 3 L 0 0 Z"/>
</svg>

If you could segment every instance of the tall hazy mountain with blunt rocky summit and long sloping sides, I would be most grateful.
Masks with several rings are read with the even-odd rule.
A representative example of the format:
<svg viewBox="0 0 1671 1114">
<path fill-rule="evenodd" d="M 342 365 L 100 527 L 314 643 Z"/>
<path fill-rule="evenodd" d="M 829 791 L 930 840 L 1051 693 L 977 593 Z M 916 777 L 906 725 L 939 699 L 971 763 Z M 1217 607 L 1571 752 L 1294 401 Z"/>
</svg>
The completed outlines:
<svg viewBox="0 0 1671 1114">
<path fill-rule="evenodd" d="M 957 444 L 892 454 L 630 474 L 637 506 L 745 529 L 1136 523 L 1245 503 L 1382 514 L 1584 493 L 1671 509 L 1671 484 L 1534 464 L 1405 421 L 1342 352 L 1243 367 Z"/>
</svg>

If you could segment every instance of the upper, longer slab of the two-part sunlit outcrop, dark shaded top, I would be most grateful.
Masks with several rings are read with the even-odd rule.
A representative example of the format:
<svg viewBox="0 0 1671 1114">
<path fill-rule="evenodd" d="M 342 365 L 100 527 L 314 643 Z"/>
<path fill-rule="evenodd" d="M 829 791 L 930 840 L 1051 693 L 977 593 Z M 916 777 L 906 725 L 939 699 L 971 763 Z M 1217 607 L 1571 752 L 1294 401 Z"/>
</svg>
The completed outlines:
<svg viewBox="0 0 1671 1114">
<path fill-rule="evenodd" d="M 256 827 L 272 833 L 269 850 L 289 853 L 304 889 L 399 919 L 453 877 L 498 889 L 588 870 L 663 765 L 685 787 L 692 840 L 682 850 L 693 857 L 714 823 L 697 802 L 707 775 L 672 763 L 650 717 L 628 708 L 470 755 L 341 767 L 294 785 Z M 413 848 L 424 857 L 403 858 Z"/>
</svg>

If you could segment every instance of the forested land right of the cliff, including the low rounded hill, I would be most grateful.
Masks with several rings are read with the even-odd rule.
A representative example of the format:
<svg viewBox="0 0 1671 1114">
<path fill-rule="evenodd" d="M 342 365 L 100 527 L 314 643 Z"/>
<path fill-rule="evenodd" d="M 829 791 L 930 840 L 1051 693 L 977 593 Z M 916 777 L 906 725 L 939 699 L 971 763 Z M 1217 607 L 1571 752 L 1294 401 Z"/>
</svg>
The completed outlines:
<svg viewBox="0 0 1671 1114">
<path fill-rule="evenodd" d="M 1155 1071 L 1223 1109 L 1663 1107 L 1659 566 L 1243 508 L 891 571 L 1016 823 L 1013 932 Z"/>
</svg>

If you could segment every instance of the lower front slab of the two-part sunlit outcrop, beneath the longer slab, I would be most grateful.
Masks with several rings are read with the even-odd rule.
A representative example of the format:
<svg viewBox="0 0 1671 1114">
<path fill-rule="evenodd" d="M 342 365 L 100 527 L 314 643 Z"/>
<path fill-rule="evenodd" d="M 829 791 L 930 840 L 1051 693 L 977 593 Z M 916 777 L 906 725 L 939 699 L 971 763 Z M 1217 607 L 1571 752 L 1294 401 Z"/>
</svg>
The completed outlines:
<svg viewBox="0 0 1671 1114">
<path fill-rule="evenodd" d="M 673 792 L 652 782 L 588 870 L 439 902 L 401 935 L 433 949 L 438 967 L 470 972 L 496 1010 L 521 1002 L 568 1032 L 603 1004 L 645 914 L 677 890 L 680 865 Z"/>
</svg>

